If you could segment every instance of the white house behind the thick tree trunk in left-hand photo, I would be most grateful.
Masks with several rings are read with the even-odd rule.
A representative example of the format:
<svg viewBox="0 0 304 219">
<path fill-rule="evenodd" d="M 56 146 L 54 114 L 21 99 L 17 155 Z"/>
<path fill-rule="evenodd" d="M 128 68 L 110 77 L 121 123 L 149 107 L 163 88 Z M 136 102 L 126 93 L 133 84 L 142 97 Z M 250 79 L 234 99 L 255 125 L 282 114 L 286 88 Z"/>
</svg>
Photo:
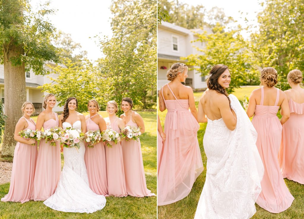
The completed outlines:
<svg viewBox="0 0 304 219">
<path fill-rule="evenodd" d="M 52 71 L 52 69 L 48 65 L 56 66 L 54 63 L 47 63 L 44 68 L 49 69 L 50 71 Z M 35 75 L 33 71 L 26 72 L 25 74 L 26 101 L 31 101 L 36 110 L 35 114 L 39 114 L 41 111 L 44 110 L 42 107 L 43 98 L 48 93 L 42 92 L 42 88 L 37 87 L 43 84 L 51 83 L 52 80 L 48 78 L 48 76 L 52 78 L 57 78 L 57 74 L 51 72 L 49 75 Z M 4 92 L 4 66 L 0 65 L 0 97 L 2 99 L 2 103 L 5 104 Z M 62 112 L 63 107 L 59 107 L 56 104 L 56 106 L 53 108 L 53 111 Z"/>
</svg>

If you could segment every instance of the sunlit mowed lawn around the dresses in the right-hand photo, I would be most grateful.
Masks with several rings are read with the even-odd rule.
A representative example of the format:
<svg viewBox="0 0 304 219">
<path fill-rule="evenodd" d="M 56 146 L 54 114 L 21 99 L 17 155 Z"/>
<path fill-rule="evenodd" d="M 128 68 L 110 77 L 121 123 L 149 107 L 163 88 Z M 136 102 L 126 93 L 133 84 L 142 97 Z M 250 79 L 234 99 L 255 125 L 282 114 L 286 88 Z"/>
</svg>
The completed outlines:
<svg viewBox="0 0 304 219">
<path fill-rule="evenodd" d="M 250 96 L 251 91 L 254 89 L 259 88 L 259 86 L 254 87 L 244 87 L 244 88 L 238 88 L 233 92 L 233 95 L 235 95 L 239 100 L 244 99 L 244 96 Z M 199 98 L 201 97 L 203 92 L 195 92 L 195 104 L 196 107 L 198 105 Z M 164 112 L 161 112 L 158 110 L 158 115 L 160 116 L 161 123 L 164 126 L 165 116 L 166 116 L 167 110 Z M 281 117 L 281 116 L 280 116 Z M 200 129 L 198 131 L 198 141 L 199 141 L 199 147 L 201 150 L 202 155 L 202 161 L 204 165 L 204 171 L 202 174 L 196 179 L 195 183 L 193 184 L 192 190 L 190 194 L 185 197 L 184 199 L 175 202 L 173 204 L 164 205 L 164 206 L 158 206 L 158 218 L 159 219 L 173 219 L 173 218 L 194 218 L 195 211 L 197 204 L 199 202 L 199 197 L 201 195 L 205 180 L 206 180 L 206 163 L 207 163 L 207 157 L 204 152 L 203 147 L 203 137 L 206 130 L 206 123 L 200 124 Z M 290 181 L 288 179 L 285 179 L 285 183 L 293 195 L 295 197 L 295 200 L 293 201 L 291 207 L 289 207 L 286 211 L 273 214 L 270 213 L 257 204 L 255 204 L 257 212 L 254 214 L 252 218 L 280 218 L 280 219 L 289 219 L 289 218 L 304 218 L 304 185 L 299 184 L 294 181 Z"/>
</svg>

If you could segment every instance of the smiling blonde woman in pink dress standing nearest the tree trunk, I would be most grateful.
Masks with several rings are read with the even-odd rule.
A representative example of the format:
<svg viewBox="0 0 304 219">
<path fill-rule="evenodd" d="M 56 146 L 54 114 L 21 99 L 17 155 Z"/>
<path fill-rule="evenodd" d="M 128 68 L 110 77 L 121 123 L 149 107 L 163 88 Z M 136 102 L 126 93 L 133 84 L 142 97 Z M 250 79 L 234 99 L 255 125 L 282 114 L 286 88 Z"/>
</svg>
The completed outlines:
<svg viewBox="0 0 304 219">
<path fill-rule="evenodd" d="M 15 201 L 24 203 L 30 200 L 31 188 L 34 180 L 34 173 L 37 159 L 37 146 L 32 146 L 34 139 L 24 139 L 19 136 L 19 131 L 31 129 L 36 130 L 36 124 L 30 116 L 35 112 L 33 104 L 29 101 L 23 103 L 21 111 L 23 116 L 16 124 L 14 139 L 17 142 L 9 193 L 1 201 Z"/>
</svg>

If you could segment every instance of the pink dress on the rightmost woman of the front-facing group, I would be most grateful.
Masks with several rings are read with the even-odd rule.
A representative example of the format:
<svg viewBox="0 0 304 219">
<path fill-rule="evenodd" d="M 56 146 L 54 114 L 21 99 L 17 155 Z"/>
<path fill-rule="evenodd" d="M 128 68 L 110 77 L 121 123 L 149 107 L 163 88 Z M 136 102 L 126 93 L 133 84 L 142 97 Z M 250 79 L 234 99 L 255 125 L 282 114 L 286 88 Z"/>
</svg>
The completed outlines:
<svg viewBox="0 0 304 219">
<path fill-rule="evenodd" d="M 126 126 L 128 125 L 138 127 L 138 125 L 132 121 L 132 115 Z M 123 166 L 128 195 L 135 197 L 154 196 L 155 194 L 147 189 L 139 138 L 137 141 L 123 140 L 121 145 L 123 148 Z"/>
</svg>

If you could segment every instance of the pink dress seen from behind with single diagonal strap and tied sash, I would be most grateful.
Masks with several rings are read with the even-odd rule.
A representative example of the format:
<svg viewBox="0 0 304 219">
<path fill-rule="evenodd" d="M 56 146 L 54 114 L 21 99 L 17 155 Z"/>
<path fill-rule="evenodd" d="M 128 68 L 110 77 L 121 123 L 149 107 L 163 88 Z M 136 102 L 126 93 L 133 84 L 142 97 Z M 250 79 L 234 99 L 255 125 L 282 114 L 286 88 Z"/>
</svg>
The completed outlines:
<svg viewBox="0 0 304 219">
<path fill-rule="evenodd" d="M 186 197 L 204 169 L 197 140 L 199 124 L 189 111 L 189 100 L 177 99 L 167 86 L 175 100 L 164 100 L 168 112 L 164 124 L 166 140 L 158 164 L 158 205 Z"/>
</svg>

